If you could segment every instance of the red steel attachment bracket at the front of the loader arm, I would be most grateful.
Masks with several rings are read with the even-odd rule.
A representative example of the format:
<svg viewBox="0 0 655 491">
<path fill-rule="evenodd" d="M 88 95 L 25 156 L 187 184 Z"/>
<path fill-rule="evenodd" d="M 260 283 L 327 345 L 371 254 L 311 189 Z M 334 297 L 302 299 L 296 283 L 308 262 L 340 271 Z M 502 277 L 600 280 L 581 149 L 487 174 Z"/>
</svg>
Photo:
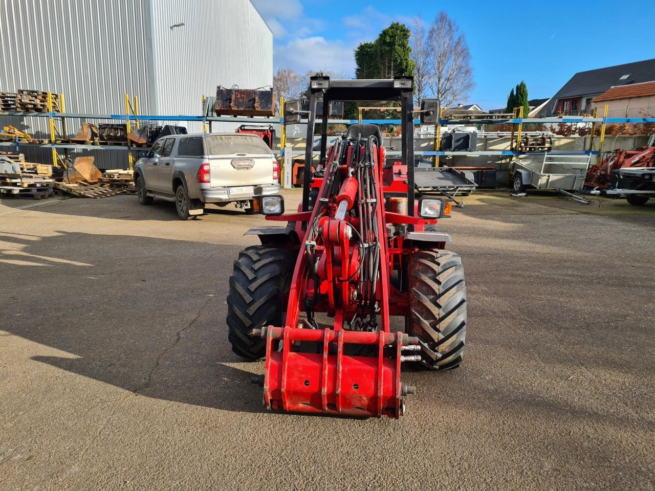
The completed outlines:
<svg viewBox="0 0 655 491">
<path fill-rule="evenodd" d="M 400 418 L 403 395 L 413 392 L 400 382 L 402 348 L 419 343 L 407 334 L 268 326 L 253 335 L 266 338 L 268 409 Z M 282 351 L 274 350 L 276 340 L 282 340 Z M 322 350 L 295 352 L 291 347 L 297 341 L 317 342 Z M 377 356 L 346 355 L 346 344 L 377 346 Z"/>
</svg>

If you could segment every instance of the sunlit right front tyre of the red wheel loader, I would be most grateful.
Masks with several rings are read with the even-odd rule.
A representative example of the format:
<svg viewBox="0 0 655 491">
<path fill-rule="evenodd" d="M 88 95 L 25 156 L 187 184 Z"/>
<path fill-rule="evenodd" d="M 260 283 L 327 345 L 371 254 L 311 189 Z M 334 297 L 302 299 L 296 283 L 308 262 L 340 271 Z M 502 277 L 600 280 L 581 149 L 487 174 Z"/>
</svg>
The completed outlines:
<svg viewBox="0 0 655 491">
<path fill-rule="evenodd" d="M 466 340 L 466 283 L 459 255 L 438 249 L 415 252 L 407 274 L 407 333 L 418 336 L 422 356 L 414 364 L 429 370 L 457 368 Z"/>
</svg>

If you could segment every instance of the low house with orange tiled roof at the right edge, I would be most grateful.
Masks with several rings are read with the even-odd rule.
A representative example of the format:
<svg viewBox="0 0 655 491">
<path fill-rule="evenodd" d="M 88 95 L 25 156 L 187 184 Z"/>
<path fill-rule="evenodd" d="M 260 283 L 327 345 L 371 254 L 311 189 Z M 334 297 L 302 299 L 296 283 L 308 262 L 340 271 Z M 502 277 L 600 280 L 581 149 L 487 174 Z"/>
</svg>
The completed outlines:
<svg viewBox="0 0 655 491">
<path fill-rule="evenodd" d="M 591 103 L 599 108 L 607 105 L 607 115 L 611 117 L 652 117 L 655 114 L 655 81 L 609 88 Z"/>
</svg>

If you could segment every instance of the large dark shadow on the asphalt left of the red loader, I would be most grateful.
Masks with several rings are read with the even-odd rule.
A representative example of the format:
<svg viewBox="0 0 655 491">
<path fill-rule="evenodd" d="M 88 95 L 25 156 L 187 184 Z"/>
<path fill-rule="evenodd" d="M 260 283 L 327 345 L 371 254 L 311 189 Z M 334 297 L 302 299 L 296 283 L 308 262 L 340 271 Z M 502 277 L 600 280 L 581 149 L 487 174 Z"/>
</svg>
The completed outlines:
<svg viewBox="0 0 655 491">
<path fill-rule="evenodd" d="M 225 328 L 240 246 L 61 232 L 0 241 L 2 329 L 64 352 L 32 359 L 138 395 L 263 411 L 250 384 L 263 362 L 234 355 Z"/>
</svg>

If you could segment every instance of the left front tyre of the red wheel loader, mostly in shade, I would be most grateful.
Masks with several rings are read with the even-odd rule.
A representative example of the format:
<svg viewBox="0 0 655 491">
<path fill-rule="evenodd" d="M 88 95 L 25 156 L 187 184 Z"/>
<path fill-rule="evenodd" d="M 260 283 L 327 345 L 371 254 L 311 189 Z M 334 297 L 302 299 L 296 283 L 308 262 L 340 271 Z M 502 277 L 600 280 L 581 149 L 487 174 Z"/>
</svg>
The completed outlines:
<svg viewBox="0 0 655 491">
<path fill-rule="evenodd" d="M 255 360 L 266 354 L 266 340 L 250 331 L 282 326 L 293 266 L 291 253 L 282 247 L 252 245 L 239 253 L 227 296 L 227 338 L 237 355 Z"/>
</svg>

